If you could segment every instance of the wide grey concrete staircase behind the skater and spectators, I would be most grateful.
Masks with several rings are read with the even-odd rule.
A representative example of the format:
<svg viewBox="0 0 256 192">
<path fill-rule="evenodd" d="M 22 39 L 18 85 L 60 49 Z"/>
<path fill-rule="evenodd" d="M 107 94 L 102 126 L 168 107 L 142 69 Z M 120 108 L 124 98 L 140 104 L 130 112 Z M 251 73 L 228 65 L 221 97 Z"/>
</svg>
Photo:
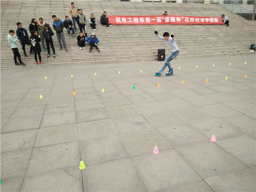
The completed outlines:
<svg viewBox="0 0 256 192">
<path fill-rule="evenodd" d="M 1 0 L 1 69 L 22 68 L 14 66 L 13 53 L 7 41 L 8 31 L 16 31 L 16 22 L 21 22 L 28 30 L 32 18 L 37 20 L 42 17 L 44 22 L 52 26 L 51 16 L 55 14 L 61 20 L 70 16 L 70 0 Z M 250 52 L 250 44 L 255 43 L 256 31 L 255 21 L 248 21 L 230 12 L 218 4 L 178 4 L 159 2 L 120 2 L 120 1 L 84 1 L 76 0 L 76 8 L 82 8 L 86 16 L 87 33 L 92 32 L 100 40 L 98 47 L 100 52 L 93 48 L 89 53 L 89 46 L 86 50 L 79 50 L 76 36 L 68 36 L 64 29 L 68 52 L 59 50 L 56 35 L 53 36 L 56 58 L 47 58 L 47 51 L 42 51 L 42 65 L 45 66 L 67 66 L 85 64 L 105 64 L 120 62 L 157 61 L 157 50 L 166 49 L 170 54 L 170 48 L 166 42 L 159 40 L 154 34 L 164 32 L 173 33 L 176 43 L 180 49 L 177 59 L 200 58 L 215 56 L 232 56 L 242 54 L 255 54 Z M 108 15 L 162 15 L 168 11 L 169 15 L 184 16 L 221 16 L 226 14 L 230 19 L 230 27 L 226 26 L 180 26 L 180 25 L 116 25 L 109 29 L 100 24 L 100 16 L 104 11 Z M 96 31 L 88 24 L 88 18 L 93 13 L 98 20 Z M 20 54 L 21 45 L 18 44 Z M 26 46 L 26 50 L 29 50 Z M 52 53 L 52 51 L 51 51 Z M 34 56 L 24 58 L 22 61 L 26 67 L 36 66 Z"/>
</svg>

